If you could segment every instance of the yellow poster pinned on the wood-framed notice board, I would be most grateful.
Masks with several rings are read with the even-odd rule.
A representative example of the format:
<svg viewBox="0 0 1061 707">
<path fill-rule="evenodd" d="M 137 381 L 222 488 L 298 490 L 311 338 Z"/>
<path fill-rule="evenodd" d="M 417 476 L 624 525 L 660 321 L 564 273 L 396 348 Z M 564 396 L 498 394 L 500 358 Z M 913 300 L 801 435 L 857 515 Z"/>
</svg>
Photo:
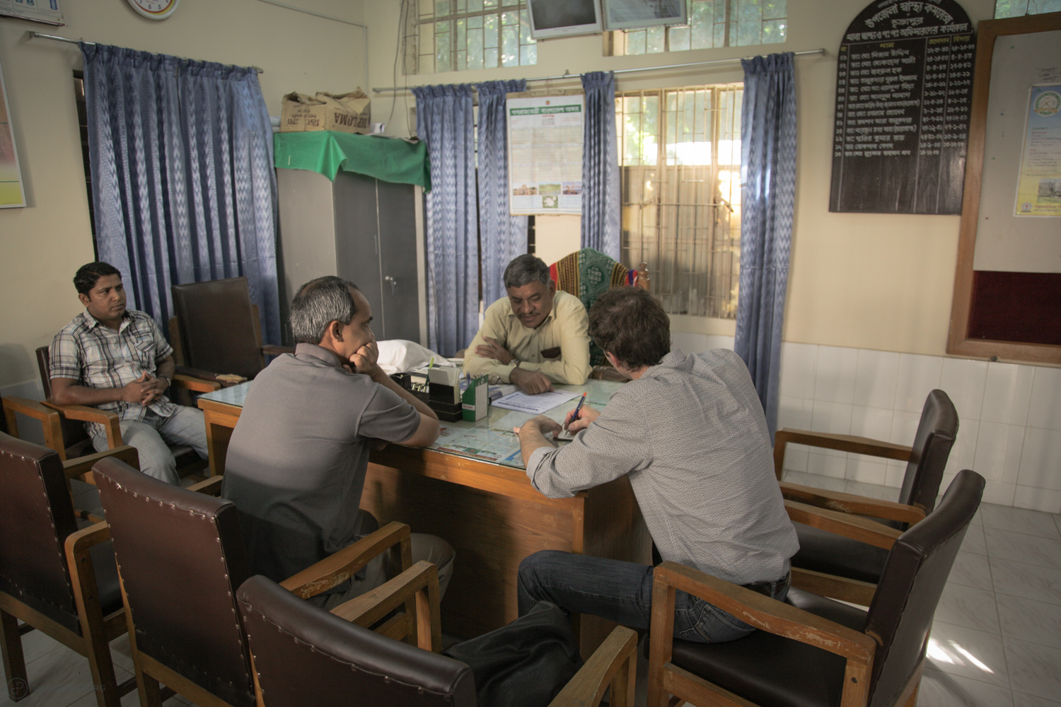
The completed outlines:
<svg viewBox="0 0 1061 707">
<path fill-rule="evenodd" d="M 1061 216 L 1061 85 L 1031 87 L 1016 215 Z"/>
</svg>

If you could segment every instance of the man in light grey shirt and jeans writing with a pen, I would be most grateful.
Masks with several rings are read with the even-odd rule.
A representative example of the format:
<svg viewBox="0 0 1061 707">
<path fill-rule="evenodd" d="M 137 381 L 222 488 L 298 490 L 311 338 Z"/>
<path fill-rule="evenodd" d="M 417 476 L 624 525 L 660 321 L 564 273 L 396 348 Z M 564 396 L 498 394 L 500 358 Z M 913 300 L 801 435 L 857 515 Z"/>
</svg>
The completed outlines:
<svg viewBox="0 0 1061 707">
<path fill-rule="evenodd" d="M 557 449 L 559 429 L 538 417 L 520 430 L 534 488 L 551 498 L 628 475 L 663 560 L 784 599 L 799 549 L 773 476 L 763 406 L 744 361 L 725 349 L 671 349 L 671 322 L 647 291 L 611 289 L 590 310 L 590 335 L 631 378 L 599 412 L 584 406 Z M 651 616 L 653 568 L 545 550 L 520 565 L 519 611 L 551 601 L 637 629 Z M 702 599 L 678 593 L 675 636 L 733 640 L 753 629 Z"/>
</svg>

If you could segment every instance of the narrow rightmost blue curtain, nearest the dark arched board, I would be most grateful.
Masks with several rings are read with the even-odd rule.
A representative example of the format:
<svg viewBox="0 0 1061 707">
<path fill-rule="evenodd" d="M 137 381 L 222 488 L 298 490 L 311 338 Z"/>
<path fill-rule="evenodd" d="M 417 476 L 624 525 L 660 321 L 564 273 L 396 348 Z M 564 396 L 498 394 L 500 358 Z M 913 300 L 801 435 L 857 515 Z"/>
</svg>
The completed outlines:
<svg viewBox="0 0 1061 707">
<path fill-rule="evenodd" d="M 748 365 L 772 439 L 796 200 L 796 83 L 792 52 L 742 64 L 741 289 L 734 349 Z"/>
</svg>

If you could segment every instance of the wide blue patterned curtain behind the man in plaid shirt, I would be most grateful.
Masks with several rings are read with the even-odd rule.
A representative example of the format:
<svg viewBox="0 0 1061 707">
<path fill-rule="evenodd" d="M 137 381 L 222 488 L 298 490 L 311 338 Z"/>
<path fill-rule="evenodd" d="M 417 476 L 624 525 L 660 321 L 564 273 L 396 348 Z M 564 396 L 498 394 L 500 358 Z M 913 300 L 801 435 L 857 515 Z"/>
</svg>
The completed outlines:
<svg viewBox="0 0 1061 707">
<path fill-rule="evenodd" d="M 162 331 L 170 285 L 246 276 L 280 342 L 273 129 L 255 69 L 81 45 L 99 258 Z"/>
</svg>

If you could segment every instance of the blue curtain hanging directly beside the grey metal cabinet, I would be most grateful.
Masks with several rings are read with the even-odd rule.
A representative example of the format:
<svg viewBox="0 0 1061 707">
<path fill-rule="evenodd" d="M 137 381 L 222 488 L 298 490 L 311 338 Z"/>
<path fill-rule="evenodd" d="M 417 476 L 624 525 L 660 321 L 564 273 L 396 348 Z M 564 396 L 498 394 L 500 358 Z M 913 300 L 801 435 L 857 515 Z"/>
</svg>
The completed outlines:
<svg viewBox="0 0 1061 707">
<path fill-rule="evenodd" d="M 479 229 L 470 85 L 418 86 L 416 131 L 428 143 L 428 346 L 445 356 L 479 331 Z"/>
</svg>

